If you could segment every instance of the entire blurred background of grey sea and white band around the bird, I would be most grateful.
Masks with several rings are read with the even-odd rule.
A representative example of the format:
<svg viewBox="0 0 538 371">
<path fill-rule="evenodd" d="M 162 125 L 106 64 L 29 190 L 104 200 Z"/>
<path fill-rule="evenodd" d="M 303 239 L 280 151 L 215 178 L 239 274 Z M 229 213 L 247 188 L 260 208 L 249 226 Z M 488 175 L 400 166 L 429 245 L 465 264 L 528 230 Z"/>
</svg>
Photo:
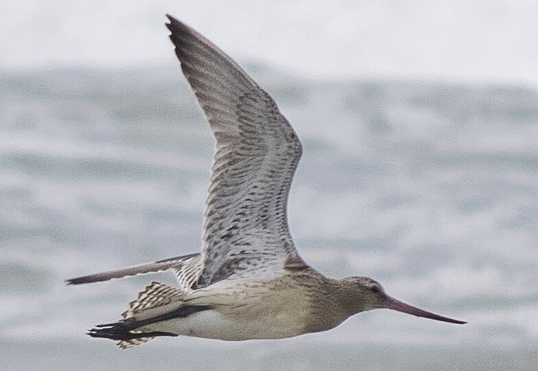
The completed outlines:
<svg viewBox="0 0 538 371">
<path fill-rule="evenodd" d="M 8 370 L 531 370 L 538 362 L 538 3 L 0 1 L 0 359 Z M 213 139 L 165 13 L 303 141 L 305 260 L 465 326 L 371 311 L 279 341 L 122 351 L 87 328 L 151 280 L 66 278 L 200 250 Z"/>
</svg>

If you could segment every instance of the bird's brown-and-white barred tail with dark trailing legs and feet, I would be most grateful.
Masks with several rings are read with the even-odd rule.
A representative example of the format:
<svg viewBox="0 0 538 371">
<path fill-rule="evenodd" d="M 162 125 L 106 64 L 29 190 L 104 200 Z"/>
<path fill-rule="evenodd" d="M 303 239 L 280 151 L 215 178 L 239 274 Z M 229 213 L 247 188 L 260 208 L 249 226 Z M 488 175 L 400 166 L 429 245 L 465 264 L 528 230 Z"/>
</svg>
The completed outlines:
<svg viewBox="0 0 538 371">
<path fill-rule="evenodd" d="M 148 325 L 211 309 L 208 306 L 182 306 L 183 298 L 183 291 L 153 282 L 141 291 L 137 300 L 130 302 L 129 309 L 121 314 L 123 320 L 98 324 L 87 334 L 91 337 L 117 340 L 117 346 L 121 349 L 132 348 L 157 336 L 178 336 L 166 331 L 152 331 Z"/>
</svg>

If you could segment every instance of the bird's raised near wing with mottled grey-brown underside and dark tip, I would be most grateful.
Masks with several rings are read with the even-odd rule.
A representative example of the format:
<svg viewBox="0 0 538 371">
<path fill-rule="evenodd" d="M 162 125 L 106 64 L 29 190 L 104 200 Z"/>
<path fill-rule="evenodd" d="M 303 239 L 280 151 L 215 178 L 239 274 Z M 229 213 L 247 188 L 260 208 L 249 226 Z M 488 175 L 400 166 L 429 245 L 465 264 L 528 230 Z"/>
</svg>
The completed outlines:
<svg viewBox="0 0 538 371">
<path fill-rule="evenodd" d="M 286 216 L 301 142 L 277 104 L 229 56 L 168 16 L 181 69 L 217 141 L 198 287 L 283 272 L 296 256 Z"/>
</svg>

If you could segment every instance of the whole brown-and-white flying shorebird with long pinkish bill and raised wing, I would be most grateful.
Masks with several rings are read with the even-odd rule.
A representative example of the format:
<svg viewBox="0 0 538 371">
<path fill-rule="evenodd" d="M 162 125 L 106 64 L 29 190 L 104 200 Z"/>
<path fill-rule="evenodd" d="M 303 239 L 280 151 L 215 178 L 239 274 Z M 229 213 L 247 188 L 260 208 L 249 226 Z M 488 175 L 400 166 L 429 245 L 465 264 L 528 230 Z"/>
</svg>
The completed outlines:
<svg viewBox="0 0 538 371">
<path fill-rule="evenodd" d="M 242 341 L 327 331 L 363 311 L 391 309 L 452 324 L 389 296 L 372 278 L 329 278 L 299 255 L 288 228 L 290 186 L 303 149 L 275 101 L 211 41 L 167 14 L 183 75 L 216 141 L 202 251 L 67 280 L 68 285 L 170 271 L 121 320 L 91 337 L 122 349 L 154 337 Z"/>
</svg>

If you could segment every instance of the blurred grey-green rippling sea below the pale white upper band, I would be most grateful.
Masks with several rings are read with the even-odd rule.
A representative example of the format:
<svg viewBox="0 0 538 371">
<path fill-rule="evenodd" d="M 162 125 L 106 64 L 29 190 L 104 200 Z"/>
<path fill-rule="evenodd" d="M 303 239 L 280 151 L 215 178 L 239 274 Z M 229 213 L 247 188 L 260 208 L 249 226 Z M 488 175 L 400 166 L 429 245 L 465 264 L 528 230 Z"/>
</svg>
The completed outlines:
<svg viewBox="0 0 538 371">
<path fill-rule="evenodd" d="M 4 71 L 1 368 L 533 370 L 538 91 L 244 65 L 303 142 L 289 219 L 305 261 L 469 324 L 379 310 L 279 341 L 91 339 L 172 277 L 64 280 L 200 250 L 211 131 L 179 67 Z"/>
</svg>

